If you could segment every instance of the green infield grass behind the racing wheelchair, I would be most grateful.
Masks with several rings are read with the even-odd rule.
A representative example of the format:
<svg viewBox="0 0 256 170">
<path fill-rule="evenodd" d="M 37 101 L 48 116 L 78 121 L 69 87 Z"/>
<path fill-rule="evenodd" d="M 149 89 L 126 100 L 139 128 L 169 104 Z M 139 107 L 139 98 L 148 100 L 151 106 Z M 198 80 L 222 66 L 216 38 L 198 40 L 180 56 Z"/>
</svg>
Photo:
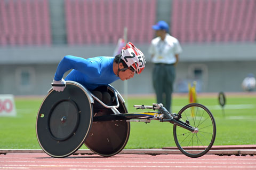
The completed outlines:
<svg viewBox="0 0 256 170">
<path fill-rule="evenodd" d="M 214 145 L 256 144 L 256 96 L 226 96 L 224 110 L 217 96 L 198 96 L 214 115 L 217 135 Z M 0 149 L 41 149 L 36 139 L 36 115 L 43 98 L 15 98 L 16 117 L 0 117 Z M 153 96 L 130 97 L 129 112 L 137 112 L 134 104 L 151 105 Z M 188 104 L 187 96 L 174 96 L 173 112 Z M 173 125 L 152 120 L 150 123 L 131 122 L 131 133 L 125 149 L 162 148 L 175 146 Z M 102 129 L 104 130 L 104 129 Z M 81 149 L 87 149 L 83 146 Z"/>
</svg>

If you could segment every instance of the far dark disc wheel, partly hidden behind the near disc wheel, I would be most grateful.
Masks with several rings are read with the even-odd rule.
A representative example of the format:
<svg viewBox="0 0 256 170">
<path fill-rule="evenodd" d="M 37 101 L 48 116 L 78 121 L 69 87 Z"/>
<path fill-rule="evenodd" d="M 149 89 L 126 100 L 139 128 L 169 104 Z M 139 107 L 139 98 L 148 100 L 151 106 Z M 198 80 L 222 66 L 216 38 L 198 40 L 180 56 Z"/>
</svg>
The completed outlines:
<svg viewBox="0 0 256 170">
<path fill-rule="evenodd" d="M 127 113 L 124 103 L 119 101 L 118 111 Z M 98 111 L 97 116 L 106 116 L 114 114 L 111 109 L 102 109 Z M 94 153 L 110 157 L 121 152 L 129 140 L 130 122 L 125 120 L 110 120 L 103 122 L 93 122 L 91 130 L 86 137 L 85 145 Z"/>
</svg>

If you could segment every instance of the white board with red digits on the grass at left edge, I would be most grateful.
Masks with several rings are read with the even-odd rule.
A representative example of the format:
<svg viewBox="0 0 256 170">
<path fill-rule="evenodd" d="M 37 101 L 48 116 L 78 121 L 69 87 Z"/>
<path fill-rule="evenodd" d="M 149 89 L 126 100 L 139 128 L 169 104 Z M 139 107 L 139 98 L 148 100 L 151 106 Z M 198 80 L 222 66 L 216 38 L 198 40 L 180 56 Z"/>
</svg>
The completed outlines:
<svg viewBox="0 0 256 170">
<path fill-rule="evenodd" d="M 0 117 L 16 116 L 14 96 L 12 94 L 0 94 Z"/>
</svg>

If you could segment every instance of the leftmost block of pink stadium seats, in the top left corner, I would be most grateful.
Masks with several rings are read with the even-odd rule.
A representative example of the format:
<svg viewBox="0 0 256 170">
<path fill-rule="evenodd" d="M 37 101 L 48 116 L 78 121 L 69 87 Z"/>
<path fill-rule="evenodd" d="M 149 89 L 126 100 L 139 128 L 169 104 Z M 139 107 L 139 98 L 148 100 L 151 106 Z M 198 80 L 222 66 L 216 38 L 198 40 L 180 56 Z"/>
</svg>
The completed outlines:
<svg viewBox="0 0 256 170">
<path fill-rule="evenodd" d="M 0 1 L 0 45 L 51 45 L 48 0 Z"/>
</svg>

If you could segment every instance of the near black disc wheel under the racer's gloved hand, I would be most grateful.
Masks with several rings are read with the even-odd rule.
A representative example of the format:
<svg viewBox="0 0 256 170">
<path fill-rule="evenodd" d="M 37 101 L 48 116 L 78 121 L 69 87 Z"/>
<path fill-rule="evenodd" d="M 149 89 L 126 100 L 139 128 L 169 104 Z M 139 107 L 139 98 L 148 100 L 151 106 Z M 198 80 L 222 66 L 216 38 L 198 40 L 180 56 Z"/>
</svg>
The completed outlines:
<svg viewBox="0 0 256 170">
<path fill-rule="evenodd" d="M 63 92 L 51 90 L 39 108 L 38 143 L 52 157 L 67 157 L 83 145 L 92 120 L 93 108 L 86 90 L 78 83 L 67 82 Z"/>
</svg>

